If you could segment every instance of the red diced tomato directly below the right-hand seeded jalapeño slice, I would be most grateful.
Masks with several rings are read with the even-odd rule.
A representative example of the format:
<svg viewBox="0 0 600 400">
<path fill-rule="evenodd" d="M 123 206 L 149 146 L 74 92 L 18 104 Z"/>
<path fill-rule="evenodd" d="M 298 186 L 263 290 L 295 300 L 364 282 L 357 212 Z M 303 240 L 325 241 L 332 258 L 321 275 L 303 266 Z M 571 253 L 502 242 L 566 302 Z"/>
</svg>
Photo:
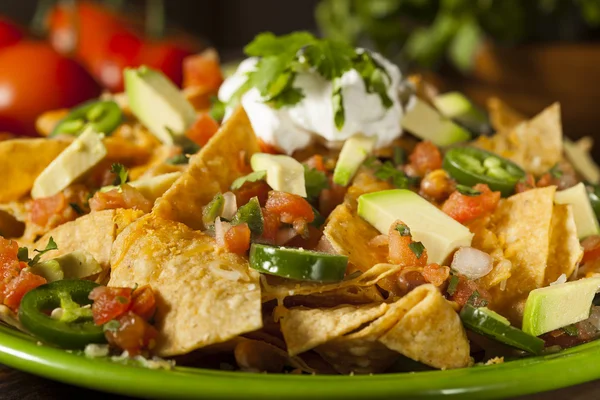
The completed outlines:
<svg viewBox="0 0 600 400">
<path fill-rule="evenodd" d="M 480 191 L 481 194 L 467 196 L 458 191 L 452 193 L 442 206 L 442 211 L 460 223 L 471 221 L 494 211 L 500 201 L 500 192 L 492 192 L 487 185 L 482 183 L 475 185 L 474 189 Z"/>
</svg>

